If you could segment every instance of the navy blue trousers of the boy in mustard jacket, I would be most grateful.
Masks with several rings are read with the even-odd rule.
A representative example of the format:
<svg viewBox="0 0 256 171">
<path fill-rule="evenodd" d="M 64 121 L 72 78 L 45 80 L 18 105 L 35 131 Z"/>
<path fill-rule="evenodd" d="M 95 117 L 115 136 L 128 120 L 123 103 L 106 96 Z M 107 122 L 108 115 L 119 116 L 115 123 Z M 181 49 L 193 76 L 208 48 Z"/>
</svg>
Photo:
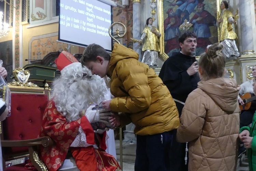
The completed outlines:
<svg viewBox="0 0 256 171">
<path fill-rule="evenodd" d="M 137 135 L 134 171 L 170 171 L 170 146 L 173 131 Z"/>
</svg>

